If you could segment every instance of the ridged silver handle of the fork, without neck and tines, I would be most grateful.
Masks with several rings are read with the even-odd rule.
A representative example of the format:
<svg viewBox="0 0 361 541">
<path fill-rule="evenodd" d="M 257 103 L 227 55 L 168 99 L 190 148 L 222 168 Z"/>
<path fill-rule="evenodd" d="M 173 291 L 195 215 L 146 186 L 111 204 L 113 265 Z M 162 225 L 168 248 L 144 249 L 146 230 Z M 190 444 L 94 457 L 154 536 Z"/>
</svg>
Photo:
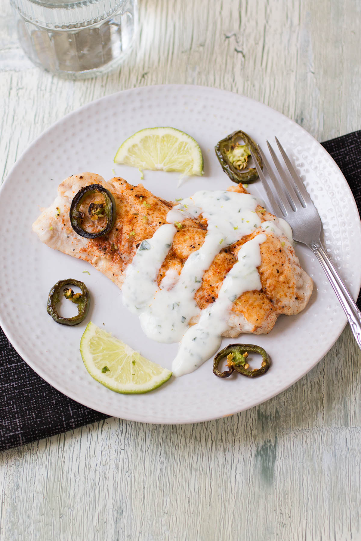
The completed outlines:
<svg viewBox="0 0 361 541">
<path fill-rule="evenodd" d="M 336 293 L 341 306 L 349 320 L 349 324 L 353 335 L 356 338 L 358 347 L 361 349 L 361 312 L 356 306 L 355 301 L 352 299 L 350 293 L 343 281 L 340 279 L 338 272 L 333 266 L 326 250 L 320 242 L 312 242 L 311 248 L 316 255 L 317 259 L 321 263 L 321 267 L 324 269 L 327 278 L 330 280 L 333 291 Z"/>
</svg>

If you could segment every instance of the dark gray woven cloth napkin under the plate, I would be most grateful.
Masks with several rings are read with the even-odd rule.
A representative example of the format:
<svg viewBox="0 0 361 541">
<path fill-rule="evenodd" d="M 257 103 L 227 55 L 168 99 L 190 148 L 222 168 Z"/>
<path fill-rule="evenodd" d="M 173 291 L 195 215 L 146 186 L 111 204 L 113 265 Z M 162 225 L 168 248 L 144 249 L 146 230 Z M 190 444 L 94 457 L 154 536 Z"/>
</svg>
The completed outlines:
<svg viewBox="0 0 361 541">
<path fill-rule="evenodd" d="M 361 214 L 361 130 L 322 144 L 345 175 Z M 16 353 L 0 328 L 0 451 L 107 417 L 51 387 Z"/>
</svg>

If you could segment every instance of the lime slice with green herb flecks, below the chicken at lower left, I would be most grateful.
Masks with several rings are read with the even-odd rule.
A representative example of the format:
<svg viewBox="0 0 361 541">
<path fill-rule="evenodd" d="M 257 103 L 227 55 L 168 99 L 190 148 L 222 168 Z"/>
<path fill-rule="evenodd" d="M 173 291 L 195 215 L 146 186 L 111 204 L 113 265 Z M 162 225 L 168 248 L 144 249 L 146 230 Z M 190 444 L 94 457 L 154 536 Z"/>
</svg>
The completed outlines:
<svg viewBox="0 0 361 541">
<path fill-rule="evenodd" d="M 91 377 L 117 393 L 147 393 L 172 375 L 91 321 L 80 341 L 80 353 Z"/>
</svg>

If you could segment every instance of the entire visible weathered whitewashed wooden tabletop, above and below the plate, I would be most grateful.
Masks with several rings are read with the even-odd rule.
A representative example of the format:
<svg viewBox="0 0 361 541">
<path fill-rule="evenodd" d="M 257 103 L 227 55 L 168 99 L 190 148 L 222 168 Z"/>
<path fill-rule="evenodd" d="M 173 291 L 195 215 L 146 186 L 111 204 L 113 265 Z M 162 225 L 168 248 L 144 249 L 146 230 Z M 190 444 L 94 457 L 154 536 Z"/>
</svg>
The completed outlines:
<svg viewBox="0 0 361 541">
<path fill-rule="evenodd" d="M 27 60 L 0 0 L 0 174 L 64 114 L 146 84 L 245 94 L 319 140 L 360 129 L 360 15 L 358 0 L 140 0 L 126 63 L 74 82 Z M 360 361 L 346 328 L 306 377 L 233 417 L 109 419 L 4 452 L 0 539 L 360 539 Z"/>
</svg>

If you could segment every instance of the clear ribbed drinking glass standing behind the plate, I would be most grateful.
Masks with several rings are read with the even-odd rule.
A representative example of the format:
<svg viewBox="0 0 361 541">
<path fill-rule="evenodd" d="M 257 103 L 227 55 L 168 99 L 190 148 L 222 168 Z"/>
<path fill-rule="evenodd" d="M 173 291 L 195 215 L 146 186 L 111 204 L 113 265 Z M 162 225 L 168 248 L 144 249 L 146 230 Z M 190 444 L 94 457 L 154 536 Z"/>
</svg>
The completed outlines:
<svg viewBox="0 0 361 541">
<path fill-rule="evenodd" d="M 34 64 L 56 75 L 93 77 L 132 49 L 137 0 L 10 0 L 19 42 Z"/>
</svg>

